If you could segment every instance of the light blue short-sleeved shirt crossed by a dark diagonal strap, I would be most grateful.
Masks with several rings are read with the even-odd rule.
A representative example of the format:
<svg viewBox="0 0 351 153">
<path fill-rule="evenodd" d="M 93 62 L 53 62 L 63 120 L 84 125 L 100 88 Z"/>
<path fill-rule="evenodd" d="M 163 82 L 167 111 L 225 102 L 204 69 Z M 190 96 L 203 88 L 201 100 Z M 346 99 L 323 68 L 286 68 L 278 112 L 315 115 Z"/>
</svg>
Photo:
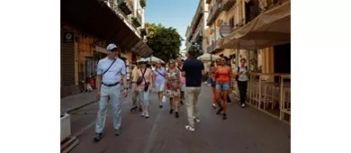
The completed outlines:
<svg viewBox="0 0 351 153">
<path fill-rule="evenodd" d="M 97 64 L 97 75 L 102 75 L 103 84 L 113 85 L 121 81 L 121 75 L 126 74 L 124 61 L 116 58 L 116 61 L 111 66 L 114 59 L 103 58 Z M 111 66 L 111 67 L 110 67 Z M 103 75 L 103 72 L 110 69 Z"/>
</svg>

